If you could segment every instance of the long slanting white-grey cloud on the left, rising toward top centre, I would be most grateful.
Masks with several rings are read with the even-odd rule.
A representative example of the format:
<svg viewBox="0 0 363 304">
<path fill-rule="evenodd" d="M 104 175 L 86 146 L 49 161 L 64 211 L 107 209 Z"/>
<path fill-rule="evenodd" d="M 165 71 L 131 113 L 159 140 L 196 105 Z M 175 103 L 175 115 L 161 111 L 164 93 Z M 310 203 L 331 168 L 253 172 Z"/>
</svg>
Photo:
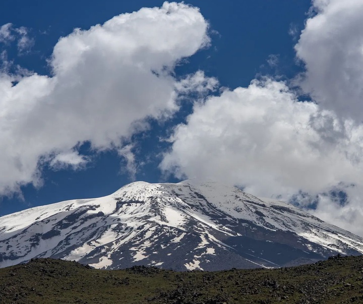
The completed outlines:
<svg viewBox="0 0 363 304">
<path fill-rule="evenodd" d="M 87 159 L 74 147 L 85 141 L 94 151 L 121 149 L 148 127 L 145 118 L 170 117 L 184 87 L 173 68 L 209 44 L 207 30 L 197 8 L 164 3 L 59 39 L 51 76 L 2 71 L 0 194 L 37 185 L 44 161 L 78 167 Z M 188 85 L 210 83 L 201 77 Z"/>
</svg>

